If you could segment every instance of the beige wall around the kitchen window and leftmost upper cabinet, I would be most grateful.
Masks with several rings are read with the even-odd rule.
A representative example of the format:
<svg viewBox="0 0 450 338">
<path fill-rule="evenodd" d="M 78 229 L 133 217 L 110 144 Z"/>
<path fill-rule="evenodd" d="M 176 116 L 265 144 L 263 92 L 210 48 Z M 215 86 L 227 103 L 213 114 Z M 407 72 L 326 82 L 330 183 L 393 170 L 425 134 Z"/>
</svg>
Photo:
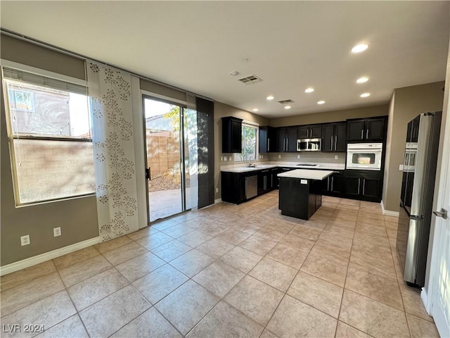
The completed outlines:
<svg viewBox="0 0 450 338">
<path fill-rule="evenodd" d="M 234 163 L 233 154 L 222 153 L 222 121 L 221 118 L 225 116 L 235 116 L 236 118 L 242 118 L 243 120 L 258 123 L 259 125 L 269 125 L 269 119 L 262 116 L 243 111 L 239 108 L 222 104 L 221 102 L 214 101 L 214 187 L 219 188 L 219 192 L 214 191 L 214 199 L 220 199 L 220 166 L 230 165 Z M 259 161 L 268 161 L 267 154 L 262 154 L 266 158 L 260 158 Z M 221 156 L 231 156 L 231 161 L 220 161 Z"/>
</svg>

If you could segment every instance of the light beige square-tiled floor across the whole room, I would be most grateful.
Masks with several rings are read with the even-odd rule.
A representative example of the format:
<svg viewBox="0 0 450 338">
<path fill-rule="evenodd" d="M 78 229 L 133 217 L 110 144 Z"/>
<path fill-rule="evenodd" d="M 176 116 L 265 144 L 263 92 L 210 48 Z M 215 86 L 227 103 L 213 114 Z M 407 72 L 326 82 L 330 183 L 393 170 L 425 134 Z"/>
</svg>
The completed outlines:
<svg viewBox="0 0 450 338">
<path fill-rule="evenodd" d="M 216 204 L 1 277 L 1 337 L 438 337 L 396 222 L 333 197 L 309 221 L 278 192 Z"/>
</svg>

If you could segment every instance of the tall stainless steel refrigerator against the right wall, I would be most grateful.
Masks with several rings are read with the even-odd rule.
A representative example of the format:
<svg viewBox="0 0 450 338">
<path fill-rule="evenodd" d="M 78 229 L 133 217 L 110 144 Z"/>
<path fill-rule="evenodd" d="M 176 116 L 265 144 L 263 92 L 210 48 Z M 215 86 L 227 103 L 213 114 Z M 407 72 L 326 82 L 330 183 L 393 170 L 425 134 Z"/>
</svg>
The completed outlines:
<svg viewBox="0 0 450 338">
<path fill-rule="evenodd" d="M 411 286 L 425 282 L 441 118 L 440 111 L 420 114 L 406 134 L 397 251 Z"/>
</svg>

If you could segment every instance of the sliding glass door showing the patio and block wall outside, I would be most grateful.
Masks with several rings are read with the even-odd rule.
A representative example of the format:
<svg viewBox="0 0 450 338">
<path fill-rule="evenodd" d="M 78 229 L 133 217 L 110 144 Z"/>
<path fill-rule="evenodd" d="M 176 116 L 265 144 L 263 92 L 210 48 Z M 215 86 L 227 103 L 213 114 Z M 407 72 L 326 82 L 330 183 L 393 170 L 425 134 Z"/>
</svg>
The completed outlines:
<svg viewBox="0 0 450 338">
<path fill-rule="evenodd" d="M 143 99 L 146 158 L 149 168 L 148 210 L 153 222 L 190 208 L 188 145 L 185 142 L 186 108 L 166 101 Z"/>
</svg>

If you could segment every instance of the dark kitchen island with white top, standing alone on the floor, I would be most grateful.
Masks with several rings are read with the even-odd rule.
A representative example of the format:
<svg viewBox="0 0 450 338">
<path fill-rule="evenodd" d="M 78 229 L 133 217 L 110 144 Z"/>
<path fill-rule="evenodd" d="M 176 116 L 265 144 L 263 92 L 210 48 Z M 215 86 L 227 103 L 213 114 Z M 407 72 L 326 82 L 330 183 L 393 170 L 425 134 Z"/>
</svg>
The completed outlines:
<svg viewBox="0 0 450 338">
<path fill-rule="evenodd" d="M 278 174 L 278 209 L 281 215 L 309 220 L 322 205 L 321 181 L 332 174 L 330 170 L 305 169 Z"/>
</svg>

